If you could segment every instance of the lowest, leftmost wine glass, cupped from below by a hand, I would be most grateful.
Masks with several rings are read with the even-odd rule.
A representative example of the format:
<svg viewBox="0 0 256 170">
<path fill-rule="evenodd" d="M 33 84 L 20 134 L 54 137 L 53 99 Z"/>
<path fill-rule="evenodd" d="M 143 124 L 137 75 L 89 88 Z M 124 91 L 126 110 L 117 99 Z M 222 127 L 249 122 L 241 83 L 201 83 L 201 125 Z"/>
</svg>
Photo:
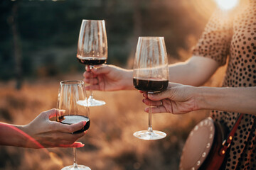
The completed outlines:
<svg viewBox="0 0 256 170">
<path fill-rule="evenodd" d="M 80 121 L 86 121 L 85 126 L 76 132 L 79 133 L 87 130 L 90 127 L 89 108 L 87 107 L 86 93 L 84 90 L 84 82 L 80 80 L 61 81 L 58 92 L 57 108 L 65 110 L 65 113 L 57 112 L 57 121 L 63 124 L 74 124 Z M 76 148 L 73 148 L 74 163 L 70 166 L 65 166 L 62 170 L 90 170 L 89 167 L 78 165 L 76 159 Z"/>
</svg>

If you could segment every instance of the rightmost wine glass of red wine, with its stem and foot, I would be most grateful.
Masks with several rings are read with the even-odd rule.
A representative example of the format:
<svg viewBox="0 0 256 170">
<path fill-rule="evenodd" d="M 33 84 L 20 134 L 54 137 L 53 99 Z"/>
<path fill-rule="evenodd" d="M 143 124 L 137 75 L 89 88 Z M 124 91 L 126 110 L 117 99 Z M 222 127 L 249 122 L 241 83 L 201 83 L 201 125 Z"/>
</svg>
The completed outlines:
<svg viewBox="0 0 256 170">
<path fill-rule="evenodd" d="M 164 37 L 139 37 L 134 60 L 134 87 L 154 94 L 166 90 L 168 83 L 169 71 Z M 134 136 L 142 140 L 159 140 L 166 137 L 166 133 L 152 129 L 151 103 L 148 130 L 134 132 Z"/>
</svg>

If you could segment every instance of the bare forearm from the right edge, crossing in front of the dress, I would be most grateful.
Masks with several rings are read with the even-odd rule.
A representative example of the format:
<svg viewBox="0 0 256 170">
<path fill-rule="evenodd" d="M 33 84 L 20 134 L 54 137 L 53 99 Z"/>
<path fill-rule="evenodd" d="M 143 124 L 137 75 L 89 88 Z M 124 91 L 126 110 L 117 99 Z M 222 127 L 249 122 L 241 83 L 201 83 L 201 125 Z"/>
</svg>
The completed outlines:
<svg viewBox="0 0 256 170">
<path fill-rule="evenodd" d="M 256 114 L 256 86 L 198 87 L 195 96 L 200 109 Z"/>
</svg>

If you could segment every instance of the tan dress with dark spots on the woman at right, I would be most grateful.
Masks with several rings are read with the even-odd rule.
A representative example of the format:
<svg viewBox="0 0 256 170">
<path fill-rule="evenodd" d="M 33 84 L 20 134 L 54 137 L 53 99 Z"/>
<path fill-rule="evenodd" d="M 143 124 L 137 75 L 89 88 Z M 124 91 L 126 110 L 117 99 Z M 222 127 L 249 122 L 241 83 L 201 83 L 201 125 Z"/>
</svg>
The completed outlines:
<svg viewBox="0 0 256 170">
<path fill-rule="evenodd" d="M 217 9 L 194 47 L 193 55 L 209 57 L 220 65 L 228 62 L 223 87 L 256 86 L 256 0 L 240 0 L 230 11 Z M 213 120 L 230 130 L 239 115 L 226 111 L 211 113 Z M 255 115 L 243 115 L 224 169 L 256 169 Z"/>
</svg>

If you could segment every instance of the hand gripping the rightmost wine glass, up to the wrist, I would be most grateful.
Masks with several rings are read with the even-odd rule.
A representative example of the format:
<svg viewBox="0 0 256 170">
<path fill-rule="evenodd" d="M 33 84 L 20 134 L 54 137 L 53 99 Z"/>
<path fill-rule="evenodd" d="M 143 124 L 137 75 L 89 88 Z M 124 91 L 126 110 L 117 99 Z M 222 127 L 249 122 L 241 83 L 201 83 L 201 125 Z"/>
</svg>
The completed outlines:
<svg viewBox="0 0 256 170">
<path fill-rule="evenodd" d="M 144 93 L 143 102 L 147 106 L 155 106 L 152 113 L 183 114 L 198 110 L 194 96 L 196 87 L 169 83 L 166 91 L 158 94 Z M 149 108 L 145 108 L 149 112 Z"/>
</svg>

